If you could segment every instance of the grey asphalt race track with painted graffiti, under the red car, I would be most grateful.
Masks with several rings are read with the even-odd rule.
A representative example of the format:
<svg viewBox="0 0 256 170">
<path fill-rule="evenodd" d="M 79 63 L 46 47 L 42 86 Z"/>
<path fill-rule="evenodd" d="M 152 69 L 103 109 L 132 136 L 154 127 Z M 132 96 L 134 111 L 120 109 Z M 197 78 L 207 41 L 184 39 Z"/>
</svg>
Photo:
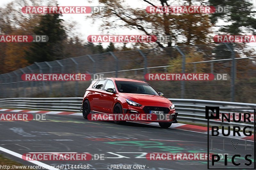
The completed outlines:
<svg viewBox="0 0 256 170">
<path fill-rule="evenodd" d="M 114 122 L 85 120 L 82 116 L 46 115 L 46 119 L 29 122 L 1 121 L 0 152 L 6 157 L 30 166 L 35 164 L 13 155 L 28 152 L 89 152 L 92 154 L 94 160 L 90 161 L 40 161 L 51 166 L 66 165 L 67 169 L 71 165 L 89 165 L 90 169 L 95 170 L 114 169 L 111 165 L 145 165 L 146 170 L 207 169 L 207 160 L 147 160 L 145 158 L 146 153 L 152 152 L 207 153 L 207 134 L 205 133 L 173 128 L 161 129 L 159 126 L 137 122 L 117 125 Z M 234 143 L 232 145 L 230 138 L 219 137 L 213 141 L 213 147 L 211 146 L 213 150 L 210 153 L 243 155 L 248 149 L 253 148 L 253 146 L 246 146 L 247 150 L 245 150 L 245 140 L 240 140 L 238 144 L 237 141 L 232 139 Z M 247 145 L 253 145 L 253 142 L 247 141 Z M 3 148 L 13 153 L 3 152 Z M 104 160 L 95 160 L 95 157 L 97 159 L 97 155 L 100 154 L 104 154 Z M 238 160 L 241 164 L 246 162 L 244 159 Z M 224 164 L 224 160 L 219 162 L 220 165 Z M 231 165 L 230 159 L 228 165 Z"/>
</svg>

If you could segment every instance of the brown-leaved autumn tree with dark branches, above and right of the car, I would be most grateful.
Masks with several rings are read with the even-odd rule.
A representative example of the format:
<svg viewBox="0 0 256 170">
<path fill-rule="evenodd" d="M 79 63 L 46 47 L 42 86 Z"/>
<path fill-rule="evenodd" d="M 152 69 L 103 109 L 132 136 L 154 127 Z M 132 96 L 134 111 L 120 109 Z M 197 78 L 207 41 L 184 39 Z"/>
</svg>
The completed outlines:
<svg viewBox="0 0 256 170">
<path fill-rule="evenodd" d="M 102 31 L 114 33 L 115 30 L 129 28 L 138 30 L 146 35 L 171 35 L 171 42 L 156 42 L 148 47 L 172 47 L 180 44 L 204 44 L 210 42 L 211 23 L 207 14 L 174 14 L 174 13 L 147 13 L 147 6 L 166 5 L 162 0 L 138 0 L 140 7 L 132 8 L 122 0 L 99 0 L 106 6 L 106 11 L 91 16 L 94 21 L 103 18 Z M 129 2 L 128 2 L 129 4 Z M 168 5 L 171 5 L 169 3 Z M 176 5 L 176 4 L 175 4 Z M 193 5 L 191 0 L 183 1 L 179 5 Z M 113 8 L 115 7 L 115 8 Z M 144 43 L 145 44 L 145 43 Z M 143 46 L 143 43 L 138 44 Z"/>
</svg>

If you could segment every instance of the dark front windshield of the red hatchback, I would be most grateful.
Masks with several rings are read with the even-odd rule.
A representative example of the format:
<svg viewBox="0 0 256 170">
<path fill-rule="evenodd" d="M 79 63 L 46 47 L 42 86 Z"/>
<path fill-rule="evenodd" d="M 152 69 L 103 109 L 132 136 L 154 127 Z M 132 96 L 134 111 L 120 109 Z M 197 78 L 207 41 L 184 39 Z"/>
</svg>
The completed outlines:
<svg viewBox="0 0 256 170">
<path fill-rule="evenodd" d="M 132 81 L 116 81 L 118 91 L 121 93 L 138 93 L 158 95 L 158 93 L 147 83 Z"/>
</svg>

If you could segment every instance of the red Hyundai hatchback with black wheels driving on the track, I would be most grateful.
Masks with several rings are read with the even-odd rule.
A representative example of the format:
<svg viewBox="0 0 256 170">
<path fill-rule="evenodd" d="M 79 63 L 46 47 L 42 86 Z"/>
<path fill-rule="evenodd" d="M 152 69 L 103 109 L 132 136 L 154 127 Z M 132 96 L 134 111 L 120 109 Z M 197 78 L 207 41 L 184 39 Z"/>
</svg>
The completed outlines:
<svg viewBox="0 0 256 170">
<path fill-rule="evenodd" d="M 157 114 L 169 116 L 168 120 L 158 120 L 162 128 L 177 123 L 174 104 L 156 92 L 148 83 L 126 78 L 103 78 L 93 80 L 86 89 L 82 104 L 85 119 L 89 113 L 96 114 Z M 148 121 L 148 120 L 147 120 Z M 121 124 L 125 121 L 115 121 Z"/>
</svg>

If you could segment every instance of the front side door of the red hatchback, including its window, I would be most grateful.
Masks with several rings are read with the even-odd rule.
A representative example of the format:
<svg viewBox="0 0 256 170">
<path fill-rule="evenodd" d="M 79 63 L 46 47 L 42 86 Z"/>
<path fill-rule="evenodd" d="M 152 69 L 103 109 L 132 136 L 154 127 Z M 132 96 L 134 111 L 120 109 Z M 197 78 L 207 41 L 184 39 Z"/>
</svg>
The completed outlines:
<svg viewBox="0 0 256 170">
<path fill-rule="evenodd" d="M 114 82 L 112 80 L 108 80 L 106 82 L 106 84 L 104 86 L 104 91 L 102 92 L 102 94 L 104 94 L 104 95 L 101 96 L 101 98 L 100 98 L 100 105 L 101 105 L 102 112 L 110 114 L 111 108 L 115 101 L 116 93 L 107 92 L 106 91 L 107 89 L 116 91 Z"/>
</svg>

